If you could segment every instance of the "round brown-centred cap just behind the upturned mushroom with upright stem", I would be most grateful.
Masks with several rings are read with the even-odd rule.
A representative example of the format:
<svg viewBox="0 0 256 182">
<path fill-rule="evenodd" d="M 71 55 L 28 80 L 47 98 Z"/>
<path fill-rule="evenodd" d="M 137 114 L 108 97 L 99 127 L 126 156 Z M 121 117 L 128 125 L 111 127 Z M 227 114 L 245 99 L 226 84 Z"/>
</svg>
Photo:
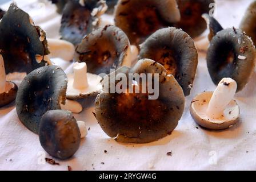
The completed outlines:
<svg viewBox="0 0 256 182">
<path fill-rule="evenodd" d="M 75 60 L 86 62 L 87 72 L 99 75 L 121 67 L 130 50 L 125 32 L 115 26 L 105 26 L 87 35 L 78 45 Z"/>
</svg>

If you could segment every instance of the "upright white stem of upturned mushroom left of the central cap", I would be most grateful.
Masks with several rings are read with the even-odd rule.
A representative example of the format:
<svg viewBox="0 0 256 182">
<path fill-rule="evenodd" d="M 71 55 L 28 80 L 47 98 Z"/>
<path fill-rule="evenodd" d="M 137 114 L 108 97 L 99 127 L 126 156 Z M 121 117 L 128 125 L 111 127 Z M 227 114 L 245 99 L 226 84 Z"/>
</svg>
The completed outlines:
<svg viewBox="0 0 256 182">
<path fill-rule="evenodd" d="M 84 89 L 89 86 L 87 80 L 87 65 L 86 63 L 74 63 L 74 83 L 75 89 Z"/>
</svg>

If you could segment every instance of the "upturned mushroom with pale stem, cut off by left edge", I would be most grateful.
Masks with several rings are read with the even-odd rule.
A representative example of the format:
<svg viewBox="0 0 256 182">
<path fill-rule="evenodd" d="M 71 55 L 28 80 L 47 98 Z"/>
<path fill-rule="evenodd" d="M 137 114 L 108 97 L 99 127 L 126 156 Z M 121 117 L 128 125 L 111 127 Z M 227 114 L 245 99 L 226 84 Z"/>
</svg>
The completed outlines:
<svg viewBox="0 0 256 182">
<path fill-rule="evenodd" d="M 6 81 L 5 65 L 0 54 L 0 107 L 10 104 L 15 100 L 18 86 L 13 82 Z"/>
</svg>

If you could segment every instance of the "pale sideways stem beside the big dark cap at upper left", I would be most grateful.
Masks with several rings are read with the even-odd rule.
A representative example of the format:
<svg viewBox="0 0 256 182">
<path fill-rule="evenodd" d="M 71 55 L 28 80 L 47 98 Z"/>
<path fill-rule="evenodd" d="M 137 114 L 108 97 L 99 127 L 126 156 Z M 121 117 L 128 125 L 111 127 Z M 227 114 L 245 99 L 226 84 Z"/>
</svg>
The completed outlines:
<svg viewBox="0 0 256 182">
<path fill-rule="evenodd" d="M 50 48 L 50 57 L 59 57 L 65 61 L 71 61 L 74 58 L 75 47 L 70 42 L 59 39 L 47 39 Z"/>
</svg>

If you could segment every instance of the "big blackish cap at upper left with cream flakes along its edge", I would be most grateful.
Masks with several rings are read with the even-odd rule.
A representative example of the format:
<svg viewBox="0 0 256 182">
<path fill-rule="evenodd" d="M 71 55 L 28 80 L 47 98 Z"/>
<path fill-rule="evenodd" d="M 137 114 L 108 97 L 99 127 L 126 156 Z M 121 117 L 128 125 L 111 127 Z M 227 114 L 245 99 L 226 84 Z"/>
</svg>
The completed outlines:
<svg viewBox="0 0 256 182">
<path fill-rule="evenodd" d="M 12 3 L 0 22 L 0 53 L 6 74 L 30 73 L 50 64 L 45 32 L 35 26 L 30 16 Z"/>
</svg>

